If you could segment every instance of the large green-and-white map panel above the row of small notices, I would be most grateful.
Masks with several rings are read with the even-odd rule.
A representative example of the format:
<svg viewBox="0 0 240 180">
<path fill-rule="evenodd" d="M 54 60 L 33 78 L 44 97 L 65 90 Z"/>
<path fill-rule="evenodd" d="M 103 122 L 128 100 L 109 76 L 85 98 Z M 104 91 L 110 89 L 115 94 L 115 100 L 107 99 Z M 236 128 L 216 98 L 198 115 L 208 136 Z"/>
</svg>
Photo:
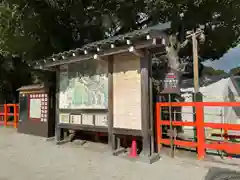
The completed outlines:
<svg viewBox="0 0 240 180">
<path fill-rule="evenodd" d="M 108 62 L 61 65 L 59 109 L 108 109 Z"/>
</svg>

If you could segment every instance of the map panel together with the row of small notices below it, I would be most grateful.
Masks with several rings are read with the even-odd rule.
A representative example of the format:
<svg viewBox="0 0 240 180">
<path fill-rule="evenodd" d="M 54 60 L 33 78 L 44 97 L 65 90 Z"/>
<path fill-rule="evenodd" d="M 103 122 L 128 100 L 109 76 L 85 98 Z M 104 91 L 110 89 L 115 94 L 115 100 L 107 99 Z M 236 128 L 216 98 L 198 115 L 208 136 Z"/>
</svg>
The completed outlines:
<svg viewBox="0 0 240 180">
<path fill-rule="evenodd" d="M 108 61 L 61 65 L 58 127 L 108 130 Z"/>
</svg>

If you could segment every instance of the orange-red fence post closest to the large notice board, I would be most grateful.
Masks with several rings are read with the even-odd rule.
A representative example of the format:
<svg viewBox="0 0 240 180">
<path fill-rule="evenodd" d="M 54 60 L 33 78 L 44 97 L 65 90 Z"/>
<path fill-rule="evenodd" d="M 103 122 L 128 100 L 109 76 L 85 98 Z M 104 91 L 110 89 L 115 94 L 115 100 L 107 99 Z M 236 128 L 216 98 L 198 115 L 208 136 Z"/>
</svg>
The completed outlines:
<svg viewBox="0 0 240 180">
<path fill-rule="evenodd" d="M 162 127 L 161 127 L 161 106 L 156 103 L 156 126 L 157 126 L 157 147 L 158 153 L 161 150 L 161 140 L 162 140 Z"/>
</svg>

